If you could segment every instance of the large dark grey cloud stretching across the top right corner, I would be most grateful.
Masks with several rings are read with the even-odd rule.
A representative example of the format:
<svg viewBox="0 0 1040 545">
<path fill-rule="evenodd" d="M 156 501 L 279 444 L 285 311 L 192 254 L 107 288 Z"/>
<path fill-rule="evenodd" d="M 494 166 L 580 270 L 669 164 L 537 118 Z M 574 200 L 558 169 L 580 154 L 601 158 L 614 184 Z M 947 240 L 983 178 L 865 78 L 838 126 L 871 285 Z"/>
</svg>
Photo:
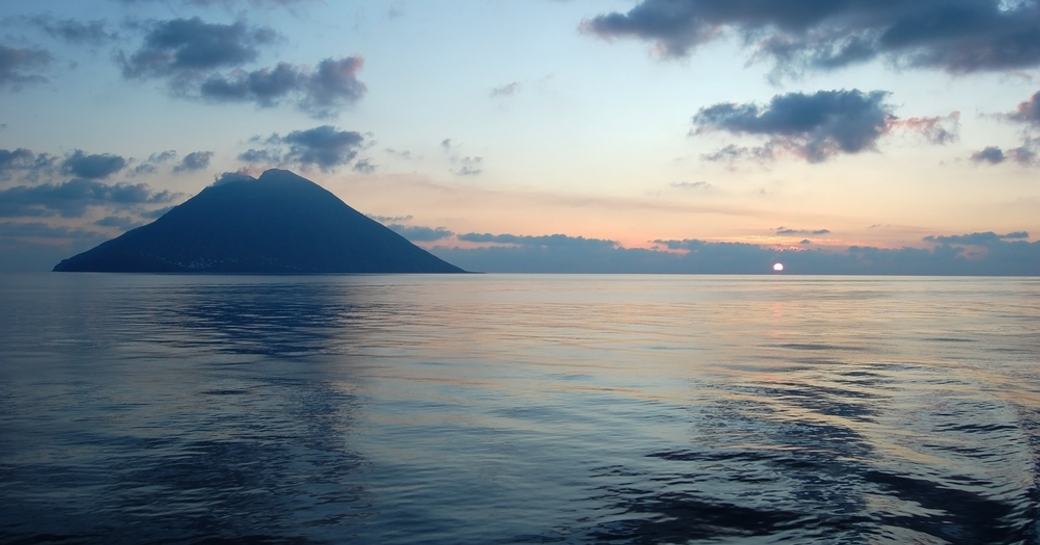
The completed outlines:
<svg viewBox="0 0 1040 545">
<path fill-rule="evenodd" d="M 1037 0 L 643 0 L 582 22 L 603 38 L 651 42 L 665 57 L 735 34 L 775 71 L 876 58 L 964 74 L 1040 66 Z"/>
</svg>

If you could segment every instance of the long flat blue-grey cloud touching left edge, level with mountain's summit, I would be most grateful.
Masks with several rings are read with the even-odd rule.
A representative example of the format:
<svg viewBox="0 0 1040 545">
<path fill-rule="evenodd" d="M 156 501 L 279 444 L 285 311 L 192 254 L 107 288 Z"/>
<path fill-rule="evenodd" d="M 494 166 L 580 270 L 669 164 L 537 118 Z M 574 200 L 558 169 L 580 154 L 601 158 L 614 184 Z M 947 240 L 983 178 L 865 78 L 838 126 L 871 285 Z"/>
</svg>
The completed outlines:
<svg viewBox="0 0 1040 545">
<path fill-rule="evenodd" d="M 19 185 L 0 190 L 0 216 L 82 216 L 89 207 L 134 207 L 170 202 L 170 191 L 153 191 L 145 184 L 105 184 L 74 178 L 63 183 Z"/>
</svg>

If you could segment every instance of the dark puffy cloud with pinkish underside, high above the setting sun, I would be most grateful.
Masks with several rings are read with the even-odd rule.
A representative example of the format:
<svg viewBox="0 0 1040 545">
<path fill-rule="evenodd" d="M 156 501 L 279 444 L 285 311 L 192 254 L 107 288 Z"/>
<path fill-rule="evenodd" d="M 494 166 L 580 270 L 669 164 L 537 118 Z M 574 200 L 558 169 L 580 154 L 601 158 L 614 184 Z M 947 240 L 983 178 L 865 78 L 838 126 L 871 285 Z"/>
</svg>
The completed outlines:
<svg viewBox="0 0 1040 545">
<path fill-rule="evenodd" d="M 770 138 L 765 149 L 784 149 L 810 162 L 838 153 L 876 149 L 889 129 L 887 93 L 818 90 L 773 97 L 768 106 L 732 102 L 701 108 L 694 116 L 695 133 L 720 130 Z"/>
</svg>

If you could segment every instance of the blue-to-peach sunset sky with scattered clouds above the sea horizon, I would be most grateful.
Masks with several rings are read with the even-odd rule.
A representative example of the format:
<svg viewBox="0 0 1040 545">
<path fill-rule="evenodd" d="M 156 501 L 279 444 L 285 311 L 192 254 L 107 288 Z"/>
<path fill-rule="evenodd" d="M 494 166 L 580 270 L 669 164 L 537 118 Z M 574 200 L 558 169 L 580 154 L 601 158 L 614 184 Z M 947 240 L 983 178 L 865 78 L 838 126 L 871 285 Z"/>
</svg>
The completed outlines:
<svg viewBox="0 0 1040 545">
<path fill-rule="evenodd" d="M 0 270 L 285 167 L 474 270 L 1040 274 L 1040 0 L 7 0 L 0 99 Z"/>
</svg>

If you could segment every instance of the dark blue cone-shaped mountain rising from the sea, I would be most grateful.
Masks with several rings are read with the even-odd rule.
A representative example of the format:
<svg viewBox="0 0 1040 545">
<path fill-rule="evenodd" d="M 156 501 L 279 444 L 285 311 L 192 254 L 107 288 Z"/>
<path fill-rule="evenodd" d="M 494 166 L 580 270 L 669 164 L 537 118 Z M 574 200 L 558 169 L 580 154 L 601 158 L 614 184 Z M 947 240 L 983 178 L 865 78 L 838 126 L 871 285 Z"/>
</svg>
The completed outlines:
<svg viewBox="0 0 1040 545">
<path fill-rule="evenodd" d="M 58 263 L 105 272 L 462 272 L 314 182 L 224 179 L 155 222 Z"/>
</svg>

